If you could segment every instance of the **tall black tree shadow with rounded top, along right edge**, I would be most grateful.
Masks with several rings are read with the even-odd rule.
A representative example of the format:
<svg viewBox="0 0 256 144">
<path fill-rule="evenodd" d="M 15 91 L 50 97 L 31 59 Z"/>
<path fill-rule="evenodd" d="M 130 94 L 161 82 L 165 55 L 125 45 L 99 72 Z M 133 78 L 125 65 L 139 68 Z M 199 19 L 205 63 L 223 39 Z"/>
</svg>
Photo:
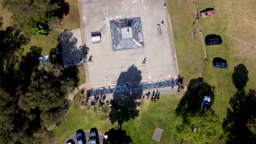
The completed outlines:
<svg viewBox="0 0 256 144">
<path fill-rule="evenodd" d="M 256 143 L 256 137 L 247 127 L 250 117 L 256 117 L 256 91 L 244 87 L 248 81 L 248 70 L 243 64 L 234 68 L 232 79 L 237 92 L 230 98 L 228 112 L 222 123 L 226 143 Z"/>
</svg>

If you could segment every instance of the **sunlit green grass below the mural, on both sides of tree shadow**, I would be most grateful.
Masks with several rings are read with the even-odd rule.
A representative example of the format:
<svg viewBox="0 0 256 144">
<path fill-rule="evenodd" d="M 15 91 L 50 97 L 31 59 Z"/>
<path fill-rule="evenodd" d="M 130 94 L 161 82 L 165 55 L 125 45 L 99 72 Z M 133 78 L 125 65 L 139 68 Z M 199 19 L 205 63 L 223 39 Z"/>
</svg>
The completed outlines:
<svg viewBox="0 0 256 144">
<path fill-rule="evenodd" d="M 139 117 L 125 122 L 122 129 L 126 130 L 127 135 L 131 136 L 135 143 L 158 143 L 152 140 L 156 127 L 164 129 L 160 143 L 181 143 L 182 139 L 177 137 L 174 130 L 175 126 L 181 123 L 181 118 L 174 115 L 179 98 L 179 95 L 165 95 L 155 103 L 142 100 Z M 75 98 L 67 112 L 65 121 L 54 129 L 57 143 L 64 143 L 78 129 L 90 130 L 96 127 L 102 134 L 111 128 L 117 129 L 117 123 L 112 125 L 108 118 L 100 117 L 92 109 L 88 111 L 85 106 L 81 106 L 77 101 L 79 101 L 79 98 Z"/>
</svg>

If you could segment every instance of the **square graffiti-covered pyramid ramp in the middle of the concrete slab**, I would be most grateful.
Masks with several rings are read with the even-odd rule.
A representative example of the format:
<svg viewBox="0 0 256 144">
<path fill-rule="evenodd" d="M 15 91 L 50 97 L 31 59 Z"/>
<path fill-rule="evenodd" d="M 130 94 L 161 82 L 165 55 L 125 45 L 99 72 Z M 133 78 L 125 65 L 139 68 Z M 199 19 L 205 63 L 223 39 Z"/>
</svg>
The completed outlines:
<svg viewBox="0 0 256 144">
<path fill-rule="evenodd" d="M 111 20 L 109 23 L 114 51 L 144 47 L 141 17 Z"/>
</svg>

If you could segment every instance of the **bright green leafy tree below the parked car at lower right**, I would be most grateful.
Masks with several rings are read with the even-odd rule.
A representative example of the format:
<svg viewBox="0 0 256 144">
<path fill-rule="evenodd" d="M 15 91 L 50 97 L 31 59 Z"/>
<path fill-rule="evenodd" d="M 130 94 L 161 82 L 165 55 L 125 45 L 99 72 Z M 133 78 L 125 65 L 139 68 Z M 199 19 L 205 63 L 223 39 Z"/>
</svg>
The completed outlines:
<svg viewBox="0 0 256 144">
<path fill-rule="evenodd" d="M 220 133 L 221 124 L 213 110 L 201 110 L 188 114 L 183 124 L 177 127 L 177 133 L 185 140 L 194 143 L 211 142 Z"/>
</svg>

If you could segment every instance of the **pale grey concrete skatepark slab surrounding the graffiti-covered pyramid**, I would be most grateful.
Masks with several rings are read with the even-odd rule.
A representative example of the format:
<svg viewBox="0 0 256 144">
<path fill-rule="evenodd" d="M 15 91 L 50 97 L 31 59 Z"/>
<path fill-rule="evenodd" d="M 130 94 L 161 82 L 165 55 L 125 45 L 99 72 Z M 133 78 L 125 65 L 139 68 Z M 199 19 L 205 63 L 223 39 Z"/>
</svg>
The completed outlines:
<svg viewBox="0 0 256 144">
<path fill-rule="evenodd" d="M 90 87 L 117 83 L 120 74 L 132 65 L 141 71 L 142 80 L 177 77 L 178 65 L 168 12 L 164 1 L 82 0 L 83 27 L 88 57 L 86 83 Z M 110 20 L 140 17 L 144 47 L 113 50 Z M 161 25 L 164 21 L 164 26 Z M 161 34 L 158 31 L 160 23 Z M 92 44 L 91 32 L 101 33 L 101 43 Z M 83 41 L 83 40 L 82 40 Z M 142 66 L 143 59 L 146 64 Z M 136 80 L 135 80 L 136 81 Z"/>
</svg>

